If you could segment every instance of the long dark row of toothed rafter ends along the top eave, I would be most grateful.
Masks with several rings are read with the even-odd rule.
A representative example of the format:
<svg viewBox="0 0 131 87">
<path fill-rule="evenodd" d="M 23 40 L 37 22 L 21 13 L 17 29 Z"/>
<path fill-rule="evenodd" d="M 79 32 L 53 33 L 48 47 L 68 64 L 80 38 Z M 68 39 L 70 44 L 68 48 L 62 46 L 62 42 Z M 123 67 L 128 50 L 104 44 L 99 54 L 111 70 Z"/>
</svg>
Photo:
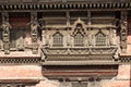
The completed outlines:
<svg viewBox="0 0 131 87">
<path fill-rule="evenodd" d="M 115 1 L 115 0 L 114 0 Z M 2 2 L 1 2 L 2 3 Z M 15 2 L 15 3 L 2 3 L 0 10 L 70 10 L 70 9 L 131 9 L 129 2 L 59 2 L 59 3 L 46 3 L 46 2 Z"/>
</svg>

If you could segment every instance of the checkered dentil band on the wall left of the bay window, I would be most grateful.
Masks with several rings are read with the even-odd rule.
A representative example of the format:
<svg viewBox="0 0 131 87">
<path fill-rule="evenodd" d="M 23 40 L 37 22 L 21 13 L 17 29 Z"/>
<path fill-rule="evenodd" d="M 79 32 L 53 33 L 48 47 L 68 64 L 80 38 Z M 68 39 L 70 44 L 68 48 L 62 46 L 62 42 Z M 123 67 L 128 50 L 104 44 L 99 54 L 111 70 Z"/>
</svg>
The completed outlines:
<svg viewBox="0 0 131 87">
<path fill-rule="evenodd" d="M 37 59 L 37 58 L 35 58 L 35 59 L 33 59 L 33 58 L 31 58 L 31 59 L 0 59 L 0 63 L 1 64 L 11 64 L 11 63 L 27 63 L 27 64 L 29 64 L 29 63 L 39 63 L 40 62 L 40 59 Z"/>
</svg>

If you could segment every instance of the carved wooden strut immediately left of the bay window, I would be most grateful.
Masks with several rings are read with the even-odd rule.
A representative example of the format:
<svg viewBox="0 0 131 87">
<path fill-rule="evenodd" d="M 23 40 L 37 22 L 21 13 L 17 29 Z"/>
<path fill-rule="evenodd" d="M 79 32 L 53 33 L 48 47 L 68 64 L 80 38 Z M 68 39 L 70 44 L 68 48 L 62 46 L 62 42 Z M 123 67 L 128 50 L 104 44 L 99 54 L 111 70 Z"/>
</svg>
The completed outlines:
<svg viewBox="0 0 131 87">
<path fill-rule="evenodd" d="M 31 23 L 29 23 L 29 27 L 31 27 L 31 35 L 32 35 L 32 51 L 33 54 L 37 54 L 38 53 L 38 42 L 37 42 L 37 28 L 38 28 L 38 23 L 37 23 L 37 12 L 32 12 L 31 13 Z"/>
</svg>

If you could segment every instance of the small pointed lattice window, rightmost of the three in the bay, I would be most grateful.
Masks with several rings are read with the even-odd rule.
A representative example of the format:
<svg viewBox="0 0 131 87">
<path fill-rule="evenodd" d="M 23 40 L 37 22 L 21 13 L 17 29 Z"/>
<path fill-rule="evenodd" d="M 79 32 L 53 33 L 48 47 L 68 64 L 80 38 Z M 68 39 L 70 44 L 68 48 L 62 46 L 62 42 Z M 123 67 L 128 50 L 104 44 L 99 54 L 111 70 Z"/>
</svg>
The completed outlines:
<svg viewBox="0 0 131 87">
<path fill-rule="evenodd" d="M 96 46 L 106 46 L 106 35 L 102 32 L 98 32 L 95 35 Z"/>
</svg>

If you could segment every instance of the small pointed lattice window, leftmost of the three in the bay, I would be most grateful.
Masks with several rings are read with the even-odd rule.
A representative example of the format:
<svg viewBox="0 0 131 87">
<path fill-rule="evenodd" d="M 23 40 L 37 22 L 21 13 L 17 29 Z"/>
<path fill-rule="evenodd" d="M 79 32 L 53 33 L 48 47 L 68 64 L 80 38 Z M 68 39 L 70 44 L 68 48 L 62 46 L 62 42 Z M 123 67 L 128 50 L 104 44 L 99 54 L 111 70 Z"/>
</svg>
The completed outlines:
<svg viewBox="0 0 131 87">
<path fill-rule="evenodd" d="M 62 47 L 63 46 L 63 36 L 57 32 L 53 36 L 53 47 Z"/>
</svg>

